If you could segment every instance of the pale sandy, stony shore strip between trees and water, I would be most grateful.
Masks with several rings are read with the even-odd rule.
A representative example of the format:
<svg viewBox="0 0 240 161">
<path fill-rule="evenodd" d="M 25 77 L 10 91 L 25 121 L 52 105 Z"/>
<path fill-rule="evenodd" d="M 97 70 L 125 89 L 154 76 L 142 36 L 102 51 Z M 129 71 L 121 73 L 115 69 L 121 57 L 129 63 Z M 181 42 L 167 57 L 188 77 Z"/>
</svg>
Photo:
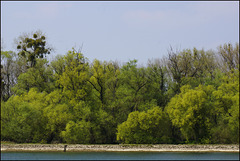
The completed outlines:
<svg viewBox="0 0 240 161">
<path fill-rule="evenodd" d="M 67 146 L 65 146 L 67 145 Z M 64 151 L 67 152 L 239 152 L 239 145 L 82 145 L 82 144 L 1 144 L 1 151 Z"/>
</svg>

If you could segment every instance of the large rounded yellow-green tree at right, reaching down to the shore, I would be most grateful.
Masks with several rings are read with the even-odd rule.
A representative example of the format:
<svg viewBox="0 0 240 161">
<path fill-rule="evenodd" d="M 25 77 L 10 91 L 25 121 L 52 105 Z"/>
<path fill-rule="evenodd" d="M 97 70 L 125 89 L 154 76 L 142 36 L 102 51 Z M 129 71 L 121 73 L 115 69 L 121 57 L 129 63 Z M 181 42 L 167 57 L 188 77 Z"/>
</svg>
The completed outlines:
<svg viewBox="0 0 240 161">
<path fill-rule="evenodd" d="M 166 112 L 172 124 L 180 128 L 187 142 L 209 137 L 212 104 L 209 100 L 212 86 L 199 86 L 191 89 L 189 85 L 181 87 L 181 93 L 171 99 Z"/>
</svg>

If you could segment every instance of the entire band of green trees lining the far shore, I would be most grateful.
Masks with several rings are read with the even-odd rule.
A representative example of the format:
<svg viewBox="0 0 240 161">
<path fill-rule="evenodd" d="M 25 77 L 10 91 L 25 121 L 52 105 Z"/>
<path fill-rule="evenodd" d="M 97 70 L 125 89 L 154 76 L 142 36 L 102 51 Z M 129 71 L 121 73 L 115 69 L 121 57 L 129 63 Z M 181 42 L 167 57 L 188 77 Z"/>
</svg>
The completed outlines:
<svg viewBox="0 0 240 161">
<path fill-rule="evenodd" d="M 239 143 L 239 44 L 172 48 L 139 66 L 75 49 L 48 61 L 39 32 L 1 50 L 1 141 Z"/>
</svg>

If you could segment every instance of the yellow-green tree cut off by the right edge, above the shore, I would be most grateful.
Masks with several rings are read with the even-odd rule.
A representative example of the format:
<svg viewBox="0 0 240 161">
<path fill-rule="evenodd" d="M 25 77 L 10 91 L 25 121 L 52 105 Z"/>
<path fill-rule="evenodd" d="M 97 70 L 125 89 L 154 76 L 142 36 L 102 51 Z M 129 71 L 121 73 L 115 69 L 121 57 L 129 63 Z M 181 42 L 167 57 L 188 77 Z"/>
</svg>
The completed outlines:
<svg viewBox="0 0 240 161">
<path fill-rule="evenodd" d="M 215 127 L 211 129 L 214 142 L 239 142 L 239 71 L 223 77 L 222 84 L 214 91 Z"/>
</svg>

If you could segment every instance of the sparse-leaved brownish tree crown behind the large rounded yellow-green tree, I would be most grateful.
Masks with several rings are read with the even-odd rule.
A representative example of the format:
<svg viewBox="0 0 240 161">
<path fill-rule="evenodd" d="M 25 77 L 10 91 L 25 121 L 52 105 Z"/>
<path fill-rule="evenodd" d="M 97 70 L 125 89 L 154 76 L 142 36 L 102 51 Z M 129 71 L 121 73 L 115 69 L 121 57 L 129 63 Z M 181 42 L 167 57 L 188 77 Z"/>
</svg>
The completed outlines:
<svg viewBox="0 0 240 161">
<path fill-rule="evenodd" d="M 205 84 L 207 80 L 213 81 L 214 71 L 218 65 L 217 57 L 212 51 L 186 49 L 181 52 L 171 50 L 168 53 L 167 70 L 173 81 L 170 88 L 174 95 L 180 93 L 183 85 L 197 87 L 199 84 Z"/>
</svg>

